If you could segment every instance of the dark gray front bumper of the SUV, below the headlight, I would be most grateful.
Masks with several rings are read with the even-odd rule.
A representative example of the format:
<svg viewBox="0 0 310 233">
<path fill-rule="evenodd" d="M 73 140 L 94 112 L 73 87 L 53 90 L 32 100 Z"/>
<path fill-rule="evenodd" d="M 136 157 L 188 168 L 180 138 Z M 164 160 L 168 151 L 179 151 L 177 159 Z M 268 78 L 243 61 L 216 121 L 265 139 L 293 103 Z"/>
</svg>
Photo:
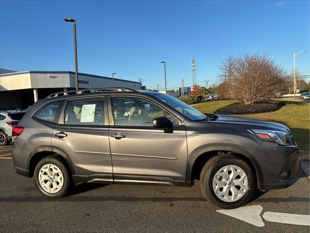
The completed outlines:
<svg viewBox="0 0 310 233">
<path fill-rule="evenodd" d="M 264 141 L 254 152 L 260 165 L 260 190 L 286 188 L 299 179 L 300 154 L 295 146 Z"/>
</svg>

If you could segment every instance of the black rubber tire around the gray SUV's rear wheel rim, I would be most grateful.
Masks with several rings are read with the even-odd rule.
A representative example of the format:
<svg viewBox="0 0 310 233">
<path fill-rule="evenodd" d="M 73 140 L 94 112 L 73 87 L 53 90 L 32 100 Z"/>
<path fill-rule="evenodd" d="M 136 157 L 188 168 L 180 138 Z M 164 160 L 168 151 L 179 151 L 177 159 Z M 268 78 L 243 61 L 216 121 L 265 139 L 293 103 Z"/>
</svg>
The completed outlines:
<svg viewBox="0 0 310 233">
<path fill-rule="evenodd" d="M 52 165 L 55 165 L 57 166 L 61 172 L 62 172 L 62 176 L 63 176 L 63 184 L 62 184 L 62 187 L 61 189 L 56 192 L 56 193 L 48 193 L 46 190 L 44 190 L 40 183 L 39 183 L 39 171 L 40 169 L 44 166 L 44 165 L 47 165 L 47 164 L 52 164 Z M 48 156 L 42 160 L 39 161 L 39 163 L 35 166 L 34 168 L 34 173 L 33 173 L 33 176 L 34 176 L 34 182 L 35 182 L 35 185 L 37 186 L 37 188 L 39 189 L 39 191 L 46 197 L 49 197 L 49 198 L 62 198 L 63 196 L 66 195 L 66 193 L 68 192 L 70 186 L 72 185 L 72 181 L 71 181 L 71 178 L 69 176 L 69 173 L 68 173 L 68 170 L 67 168 L 63 165 L 63 163 L 57 158 L 57 156 L 54 156 L 54 155 L 51 155 L 51 156 Z"/>
</svg>

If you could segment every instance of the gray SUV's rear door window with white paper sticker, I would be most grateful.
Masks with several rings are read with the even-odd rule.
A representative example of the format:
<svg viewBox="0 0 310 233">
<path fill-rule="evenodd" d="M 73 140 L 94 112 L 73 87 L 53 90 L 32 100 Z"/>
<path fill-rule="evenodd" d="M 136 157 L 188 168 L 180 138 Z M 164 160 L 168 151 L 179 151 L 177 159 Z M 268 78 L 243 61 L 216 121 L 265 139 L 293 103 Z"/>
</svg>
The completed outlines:
<svg viewBox="0 0 310 233">
<path fill-rule="evenodd" d="M 64 110 L 65 125 L 104 125 L 103 98 L 69 100 Z"/>
</svg>

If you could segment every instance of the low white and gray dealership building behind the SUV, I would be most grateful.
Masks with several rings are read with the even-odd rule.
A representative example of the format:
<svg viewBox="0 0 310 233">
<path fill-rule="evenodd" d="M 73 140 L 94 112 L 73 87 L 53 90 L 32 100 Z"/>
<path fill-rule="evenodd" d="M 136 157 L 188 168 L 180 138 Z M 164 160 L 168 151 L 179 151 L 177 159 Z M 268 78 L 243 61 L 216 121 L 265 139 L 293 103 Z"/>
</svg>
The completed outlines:
<svg viewBox="0 0 310 233">
<path fill-rule="evenodd" d="M 78 73 L 78 88 L 124 87 L 140 90 L 142 83 Z M 25 109 L 39 99 L 60 91 L 75 90 L 75 72 L 0 69 L 0 108 Z"/>
</svg>

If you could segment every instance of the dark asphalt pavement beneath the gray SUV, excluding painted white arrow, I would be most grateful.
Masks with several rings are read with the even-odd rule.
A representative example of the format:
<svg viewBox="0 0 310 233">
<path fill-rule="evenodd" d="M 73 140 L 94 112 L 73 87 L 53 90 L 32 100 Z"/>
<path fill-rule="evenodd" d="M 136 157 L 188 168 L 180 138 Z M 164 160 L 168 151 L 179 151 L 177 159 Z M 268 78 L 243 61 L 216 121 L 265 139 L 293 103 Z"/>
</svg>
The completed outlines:
<svg viewBox="0 0 310 233">
<path fill-rule="evenodd" d="M 199 183 L 192 188 L 79 184 L 70 196 L 50 200 L 33 179 L 17 175 L 12 146 L 0 148 L 0 232 L 279 232 L 309 233 L 309 226 L 268 222 L 257 227 L 216 212 Z M 5 151 L 4 151 L 5 150 Z M 9 154 L 1 156 L 3 154 Z M 7 158 L 7 159 L 5 159 Z M 248 204 L 263 211 L 309 215 L 310 182 L 261 193 Z"/>
</svg>

